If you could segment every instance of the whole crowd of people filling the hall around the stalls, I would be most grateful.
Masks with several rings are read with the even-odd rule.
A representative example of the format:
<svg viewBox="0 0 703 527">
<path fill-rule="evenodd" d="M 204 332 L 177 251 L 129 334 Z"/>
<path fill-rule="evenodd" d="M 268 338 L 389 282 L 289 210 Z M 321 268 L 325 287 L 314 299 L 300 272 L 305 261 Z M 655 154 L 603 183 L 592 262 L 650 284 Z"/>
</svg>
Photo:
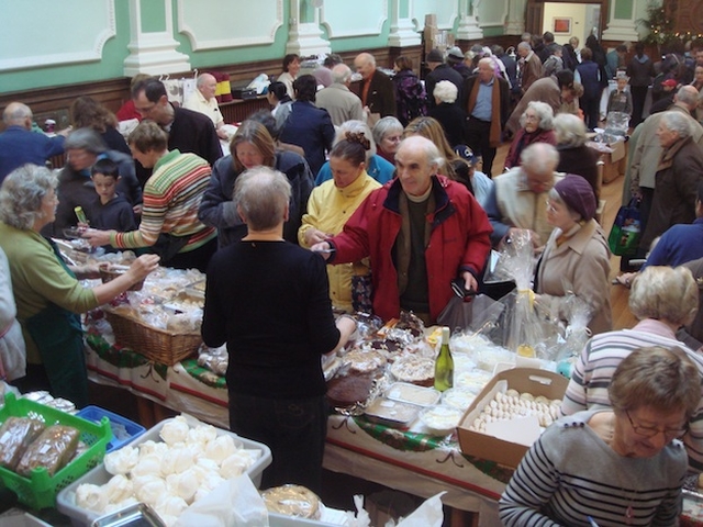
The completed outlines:
<svg viewBox="0 0 703 527">
<path fill-rule="evenodd" d="M 700 394 L 692 401 L 679 393 L 698 386 L 703 372 L 693 351 L 703 332 L 691 325 L 702 254 L 682 243 L 700 237 L 703 216 L 703 45 L 676 63 L 688 69 L 667 59 L 655 65 L 639 43 L 628 61 L 627 45 L 605 53 L 594 36 L 579 48 L 578 38 L 560 45 L 549 32 L 523 35 L 514 49 L 432 49 L 424 82 L 409 57 L 394 60 L 391 79 L 361 53 L 353 64 L 358 94 L 341 57 L 325 60 L 324 75 L 299 75 L 301 58 L 287 55 L 269 86 L 271 111 L 233 135 L 210 74 L 182 108 L 158 79 L 134 79 L 119 112 L 140 121 L 126 139 L 116 117 L 88 97 L 71 105 L 72 128 L 54 137 L 31 131 L 29 106 L 9 104 L 0 134 L 4 379 L 87 404 L 77 315 L 159 264 L 199 269 L 208 277 L 204 341 L 228 345 L 232 429 L 274 450 L 268 484 L 319 490 L 326 422 L 320 359 L 356 327 L 333 310 L 368 310 L 383 321 L 412 311 L 436 324 L 453 282 L 484 291 L 491 249 L 527 235 L 535 304 L 566 321 L 577 296 L 593 338 L 562 406 L 576 414 L 529 451 L 501 501 L 503 520 L 577 522 L 571 485 L 582 479 L 583 492 L 600 496 L 610 485 L 617 494 L 605 516 L 668 520 L 685 464 L 676 438 L 683 436 L 691 466 L 703 468 Z M 607 111 L 628 115 L 634 128 L 625 187 L 627 201 L 641 202 L 641 250 L 663 240 L 651 264 L 627 277 L 640 322 L 625 332 L 612 332 L 598 154 L 587 144 L 611 80 Z M 643 88 L 652 82 L 665 102 L 645 119 Z M 506 144 L 495 167 L 496 148 Z M 56 176 L 45 164 L 64 152 Z M 92 246 L 143 253 L 126 273 L 92 289 L 78 278 L 96 269 L 65 265 L 51 239 L 78 223 L 77 208 Z M 692 225 L 683 232 L 677 224 Z M 677 334 L 683 326 L 688 333 Z M 676 396 L 651 385 L 652 371 L 679 386 Z M 287 426 L 293 422 L 299 426 Z M 594 451 L 605 453 L 589 464 Z M 657 471 L 652 484 L 666 491 L 634 506 L 639 491 L 617 483 L 621 469 L 628 478 Z M 533 478 L 544 492 L 528 489 Z"/>
</svg>

